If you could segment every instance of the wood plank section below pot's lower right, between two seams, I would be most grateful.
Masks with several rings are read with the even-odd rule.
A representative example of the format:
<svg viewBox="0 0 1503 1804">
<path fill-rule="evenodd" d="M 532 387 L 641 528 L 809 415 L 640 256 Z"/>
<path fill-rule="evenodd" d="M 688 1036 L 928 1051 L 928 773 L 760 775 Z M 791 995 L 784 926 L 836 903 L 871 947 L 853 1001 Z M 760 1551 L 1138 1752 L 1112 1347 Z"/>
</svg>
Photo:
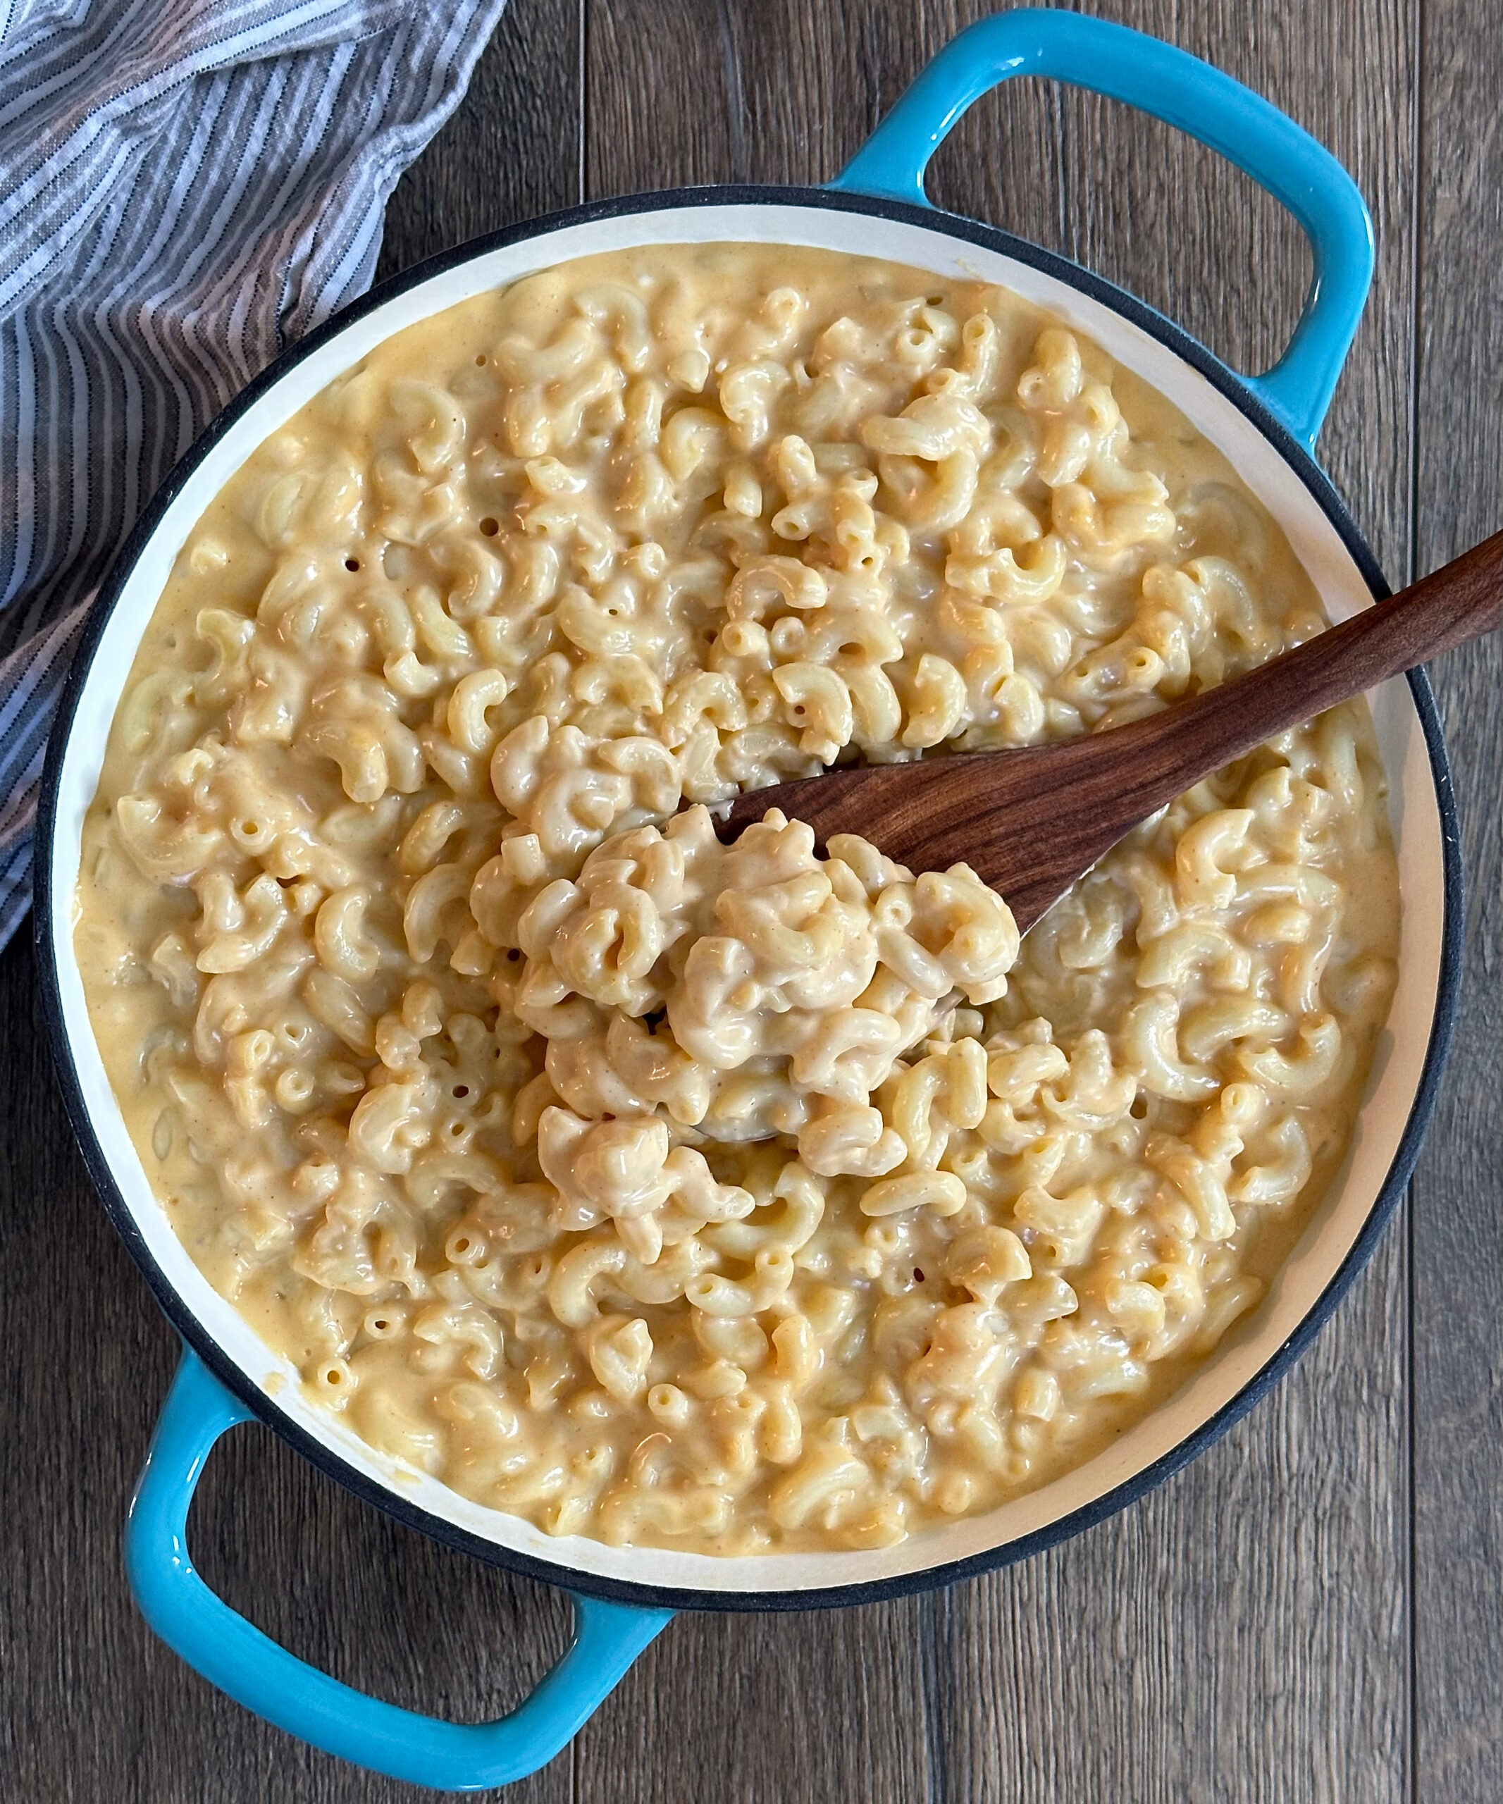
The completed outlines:
<svg viewBox="0 0 1503 1804">
<path fill-rule="evenodd" d="M 1379 1568 L 1402 1562 L 1404 1398 L 1375 1358 L 1404 1337 L 1400 1254 L 1389 1238 L 1315 1353 L 1178 1479 L 942 1600 L 944 1799 L 1406 1797 L 1402 1571 Z"/>
</svg>

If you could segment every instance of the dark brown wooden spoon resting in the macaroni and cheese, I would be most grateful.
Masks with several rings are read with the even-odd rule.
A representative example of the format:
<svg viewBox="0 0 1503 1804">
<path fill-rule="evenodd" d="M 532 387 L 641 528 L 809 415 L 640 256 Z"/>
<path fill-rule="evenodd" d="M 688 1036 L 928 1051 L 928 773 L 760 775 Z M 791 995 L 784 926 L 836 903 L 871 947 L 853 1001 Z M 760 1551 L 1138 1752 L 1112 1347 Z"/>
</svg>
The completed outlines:
<svg viewBox="0 0 1503 1804">
<path fill-rule="evenodd" d="M 1277 732 L 1503 626 L 1503 532 L 1294 651 L 1126 727 L 1005 752 L 843 765 L 738 796 L 716 823 L 734 839 L 769 808 L 823 844 L 861 833 L 900 864 L 969 864 L 1019 929 L 1139 821 Z"/>
</svg>

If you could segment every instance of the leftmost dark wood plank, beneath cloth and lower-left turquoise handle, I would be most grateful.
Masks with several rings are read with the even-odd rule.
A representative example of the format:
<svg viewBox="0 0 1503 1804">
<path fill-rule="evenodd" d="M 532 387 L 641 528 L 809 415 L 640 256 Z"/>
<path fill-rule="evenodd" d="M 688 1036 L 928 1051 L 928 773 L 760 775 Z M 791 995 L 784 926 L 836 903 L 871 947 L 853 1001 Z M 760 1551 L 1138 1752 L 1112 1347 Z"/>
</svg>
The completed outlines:
<svg viewBox="0 0 1503 1804">
<path fill-rule="evenodd" d="M 383 272 L 577 197 L 577 0 L 512 0 L 469 99 L 399 186 Z M 121 1569 L 130 1488 L 177 1344 L 99 1209 L 58 1100 L 25 938 L 0 958 L 0 1791 L 112 1804 L 411 1799 L 211 1690 Z M 446 1553 L 260 1429 L 209 1463 L 206 1577 L 294 1652 L 410 1708 L 480 1721 L 565 1645 L 558 1591 Z M 572 1797 L 565 1753 L 507 1793 Z"/>
</svg>

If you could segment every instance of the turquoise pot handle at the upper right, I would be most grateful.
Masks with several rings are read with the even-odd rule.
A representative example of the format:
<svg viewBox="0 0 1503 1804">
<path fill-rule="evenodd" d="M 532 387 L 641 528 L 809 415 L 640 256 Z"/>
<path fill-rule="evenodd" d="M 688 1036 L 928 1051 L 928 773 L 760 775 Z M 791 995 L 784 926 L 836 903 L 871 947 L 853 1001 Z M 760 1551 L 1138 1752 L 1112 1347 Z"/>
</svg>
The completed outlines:
<svg viewBox="0 0 1503 1804">
<path fill-rule="evenodd" d="M 1373 280 L 1373 222 L 1360 189 L 1323 144 L 1187 51 L 1050 7 L 983 18 L 922 70 L 830 188 L 931 206 L 929 159 L 973 101 L 1010 76 L 1068 81 L 1178 126 L 1299 220 L 1315 263 L 1305 310 L 1272 370 L 1243 381 L 1314 449 Z"/>
</svg>

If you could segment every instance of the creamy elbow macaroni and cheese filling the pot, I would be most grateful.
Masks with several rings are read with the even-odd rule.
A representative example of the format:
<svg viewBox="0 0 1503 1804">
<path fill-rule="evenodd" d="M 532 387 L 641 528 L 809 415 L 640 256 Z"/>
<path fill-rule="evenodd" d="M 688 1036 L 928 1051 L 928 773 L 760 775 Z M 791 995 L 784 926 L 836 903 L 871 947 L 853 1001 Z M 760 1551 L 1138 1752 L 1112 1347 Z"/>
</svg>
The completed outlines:
<svg viewBox="0 0 1503 1804">
<path fill-rule="evenodd" d="M 114 725 L 78 945 L 141 1156 L 312 1394 L 552 1533 L 991 1508 L 1180 1384 L 1344 1155 L 1366 707 L 1021 947 L 965 866 L 707 810 L 1319 624 L 1218 453 L 996 289 L 686 245 L 413 327 L 211 505 Z"/>
</svg>

